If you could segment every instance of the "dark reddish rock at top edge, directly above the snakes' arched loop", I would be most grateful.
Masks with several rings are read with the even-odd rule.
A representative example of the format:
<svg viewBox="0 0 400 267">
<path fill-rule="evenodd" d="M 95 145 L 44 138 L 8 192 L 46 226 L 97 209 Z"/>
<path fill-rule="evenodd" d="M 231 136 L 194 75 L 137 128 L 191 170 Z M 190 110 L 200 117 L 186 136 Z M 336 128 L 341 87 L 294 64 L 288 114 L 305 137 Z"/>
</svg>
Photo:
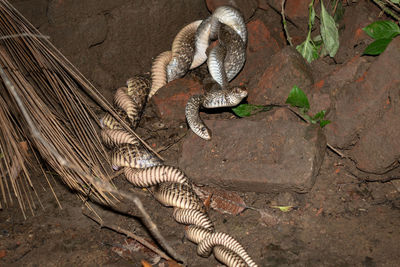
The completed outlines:
<svg viewBox="0 0 400 267">
<path fill-rule="evenodd" d="M 220 6 L 233 6 L 240 10 L 245 20 L 251 18 L 258 7 L 257 0 L 206 0 L 206 4 L 211 13 Z"/>
</svg>

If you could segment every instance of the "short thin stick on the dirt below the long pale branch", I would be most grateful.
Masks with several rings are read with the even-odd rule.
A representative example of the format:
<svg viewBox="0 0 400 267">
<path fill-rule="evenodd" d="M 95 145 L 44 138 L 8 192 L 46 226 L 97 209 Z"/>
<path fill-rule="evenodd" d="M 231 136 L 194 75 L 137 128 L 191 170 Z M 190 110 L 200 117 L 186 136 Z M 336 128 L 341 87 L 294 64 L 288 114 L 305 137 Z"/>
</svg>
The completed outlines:
<svg viewBox="0 0 400 267">
<path fill-rule="evenodd" d="M 95 221 L 96 223 L 98 223 L 100 225 L 101 228 L 108 228 L 111 229 L 117 233 L 121 233 L 126 235 L 127 237 L 133 238 L 136 241 L 138 241 L 139 243 L 141 243 L 143 246 L 147 247 L 148 249 L 152 250 L 154 253 L 158 254 L 161 258 L 165 259 L 165 260 L 172 260 L 167 254 L 165 254 L 163 251 L 159 250 L 157 247 L 155 247 L 154 245 L 150 244 L 149 242 L 147 242 L 143 237 L 140 237 L 138 235 L 135 235 L 134 233 L 123 229 L 115 224 L 109 223 L 109 222 L 104 222 L 104 220 L 102 218 L 98 218 L 96 216 L 93 216 L 91 213 L 89 213 L 87 211 L 87 209 L 85 209 L 82 206 L 82 214 L 85 215 L 86 217 L 92 219 L 93 221 Z"/>
</svg>

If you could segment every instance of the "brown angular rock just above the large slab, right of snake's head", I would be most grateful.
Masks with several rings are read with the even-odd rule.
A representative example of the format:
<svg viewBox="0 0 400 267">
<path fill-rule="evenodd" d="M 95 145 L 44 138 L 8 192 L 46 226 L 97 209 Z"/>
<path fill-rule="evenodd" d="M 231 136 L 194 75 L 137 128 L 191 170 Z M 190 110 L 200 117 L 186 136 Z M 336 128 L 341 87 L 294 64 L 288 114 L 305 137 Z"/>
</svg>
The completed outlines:
<svg viewBox="0 0 400 267">
<path fill-rule="evenodd" d="M 313 76 L 310 65 L 293 47 L 275 54 L 259 79 L 249 82 L 248 102 L 256 105 L 284 104 L 294 85 L 310 92 Z"/>
</svg>

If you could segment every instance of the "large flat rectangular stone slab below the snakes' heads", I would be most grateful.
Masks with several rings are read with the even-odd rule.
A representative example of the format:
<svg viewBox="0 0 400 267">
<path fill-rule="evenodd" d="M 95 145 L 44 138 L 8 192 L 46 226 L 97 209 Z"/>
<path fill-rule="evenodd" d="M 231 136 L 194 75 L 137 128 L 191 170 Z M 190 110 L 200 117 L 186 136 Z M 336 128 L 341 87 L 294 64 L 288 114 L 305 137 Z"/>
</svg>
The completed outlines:
<svg viewBox="0 0 400 267">
<path fill-rule="evenodd" d="M 264 119 L 205 121 L 213 139 L 205 141 L 190 132 L 179 167 L 195 183 L 230 190 L 309 191 L 325 154 L 320 127 L 283 109 L 260 117 Z"/>
</svg>

